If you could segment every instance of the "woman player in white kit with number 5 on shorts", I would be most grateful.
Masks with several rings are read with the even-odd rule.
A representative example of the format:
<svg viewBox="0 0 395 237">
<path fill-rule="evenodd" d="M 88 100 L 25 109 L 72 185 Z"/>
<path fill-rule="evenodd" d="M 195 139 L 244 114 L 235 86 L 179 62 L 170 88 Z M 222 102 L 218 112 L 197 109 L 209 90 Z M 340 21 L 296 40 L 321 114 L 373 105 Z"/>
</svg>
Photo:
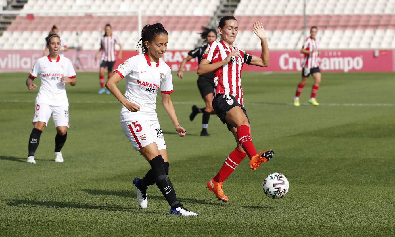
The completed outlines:
<svg viewBox="0 0 395 237">
<path fill-rule="evenodd" d="M 170 67 L 160 59 L 167 49 L 167 42 L 167 31 L 162 24 L 146 25 L 141 31 L 139 43 L 144 54 L 120 64 L 105 87 L 123 104 L 120 113 L 122 131 L 152 168 L 142 179 L 133 180 L 139 206 L 147 208 L 147 187 L 156 183 L 171 207 L 169 214 L 198 216 L 182 207 L 167 177 L 169 162 L 166 143 L 155 112 L 156 95 L 160 89 L 162 105 L 173 121 L 175 130 L 180 137 L 186 135 L 185 129 L 179 125 L 170 99 L 170 93 L 173 92 Z M 115 85 L 122 78 L 126 78 L 125 95 Z"/>
</svg>

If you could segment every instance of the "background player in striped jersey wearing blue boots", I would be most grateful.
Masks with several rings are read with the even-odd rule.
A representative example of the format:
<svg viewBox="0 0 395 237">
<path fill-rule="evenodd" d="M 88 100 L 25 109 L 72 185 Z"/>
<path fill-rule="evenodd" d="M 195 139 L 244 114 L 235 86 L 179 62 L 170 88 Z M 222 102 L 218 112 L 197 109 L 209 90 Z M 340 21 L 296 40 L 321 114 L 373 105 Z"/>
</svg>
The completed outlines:
<svg viewBox="0 0 395 237">
<path fill-rule="evenodd" d="M 99 53 L 102 52 L 102 57 L 100 58 L 100 90 L 99 94 L 103 94 L 104 89 L 104 70 L 107 67 L 107 78 L 113 74 L 113 67 L 115 60 L 115 44 L 119 45 L 118 59 L 122 58 L 122 45 L 120 44 L 118 37 L 112 34 L 112 28 L 110 24 L 105 25 L 105 33 L 100 40 L 100 49 L 96 53 L 95 59 L 98 60 Z M 110 91 L 105 91 L 106 94 L 110 94 Z"/>
</svg>

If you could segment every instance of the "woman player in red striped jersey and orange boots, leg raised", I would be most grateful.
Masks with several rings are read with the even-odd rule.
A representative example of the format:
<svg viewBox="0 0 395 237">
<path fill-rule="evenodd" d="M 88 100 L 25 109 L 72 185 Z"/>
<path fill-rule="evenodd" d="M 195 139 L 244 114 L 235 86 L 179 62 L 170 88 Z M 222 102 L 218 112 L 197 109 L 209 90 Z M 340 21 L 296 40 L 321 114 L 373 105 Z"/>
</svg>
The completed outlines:
<svg viewBox="0 0 395 237">
<path fill-rule="evenodd" d="M 218 32 L 221 40 L 213 41 L 205 50 L 198 67 L 198 74 L 214 71 L 215 93 L 213 108 L 222 123 L 233 133 L 237 147 L 225 159 L 224 165 L 214 178 L 207 182 L 207 188 L 213 191 L 221 201 L 228 202 L 222 190 L 222 182 L 236 169 L 246 155 L 250 158 L 250 169 L 256 170 L 263 162 L 273 157 L 273 150 L 258 154 L 251 138 L 250 121 L 243 107 L 243 89 L 241 70 L 243 65 L 269 66 L 269 48 L 266 31 L 259 21 L 253 23 L 254 33 L 261 40 L 261 57 L 253 56 L 234 47 L 239 29 L 235 17 L 224 16 L 220 19 Z"/>
</svg>

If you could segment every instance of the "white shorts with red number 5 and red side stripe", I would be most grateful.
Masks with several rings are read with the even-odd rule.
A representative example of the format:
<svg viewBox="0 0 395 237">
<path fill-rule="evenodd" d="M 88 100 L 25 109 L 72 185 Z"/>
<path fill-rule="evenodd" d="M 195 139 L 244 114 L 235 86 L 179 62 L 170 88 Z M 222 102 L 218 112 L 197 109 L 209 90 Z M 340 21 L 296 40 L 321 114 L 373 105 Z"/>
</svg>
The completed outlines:
<svg viewBox="0 0 395 237">
<path fill-rule="evenodd" d="M 159 150 L 166 149 L 165 138 L 158 120 L 133 119 L 121 122 L 121 127 L 136 151 L 152 142 L 156 142 Z"/>
</svg>

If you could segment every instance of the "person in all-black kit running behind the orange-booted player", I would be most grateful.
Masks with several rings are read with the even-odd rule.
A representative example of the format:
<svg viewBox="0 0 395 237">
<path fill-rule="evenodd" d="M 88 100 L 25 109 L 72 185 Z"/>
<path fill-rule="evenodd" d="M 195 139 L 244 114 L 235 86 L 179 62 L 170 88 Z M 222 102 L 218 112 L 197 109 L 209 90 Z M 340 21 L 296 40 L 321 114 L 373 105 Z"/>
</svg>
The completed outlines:
<svg viewBox="0 0 395 237">
<path fill-rule="evenodd" d="M 215 29 L 210 29 L 207 27 L 201 27 L 203 30 L 200 33 L 200 36 L 203 40 L 206 41 L 206 44 L 203 44 L 196 49 L 193 49 L 188 52 L 188 57 L 182 60 L 180 64 L 180 68 L 178 70 L 177 76 L 182 78 L 183 73 L 182 70 L 186 62 L 190 61 L 193 58 L 198 57 L 198 61 L 200 63 L 201 57 L 205 49 L 207 48 L 207 44 L 217 39 L 217 31 Z M 189 119 L 192 121 L 194 120 L 195 116 L 199 113 L 203 113 L 202 118 L 202 130 L 200 132 L 200 136 L 202 137 L 209 137 L 210 135 L 207 133 L 207 127 L 209 125 L 210 114 L 215 114 L 213 110 L 213 97 L 214 97 L 214 82 L 213 82 L 213 72 L 209 72 L 199 76 L 198 78 L 198 88 L 200 91 L 200 95 L 203 98 L 206 107 L 205 108 L 198 108 L 198 106 L 192 106 L 192 113 L 189 116 Z"/>
</svg>

